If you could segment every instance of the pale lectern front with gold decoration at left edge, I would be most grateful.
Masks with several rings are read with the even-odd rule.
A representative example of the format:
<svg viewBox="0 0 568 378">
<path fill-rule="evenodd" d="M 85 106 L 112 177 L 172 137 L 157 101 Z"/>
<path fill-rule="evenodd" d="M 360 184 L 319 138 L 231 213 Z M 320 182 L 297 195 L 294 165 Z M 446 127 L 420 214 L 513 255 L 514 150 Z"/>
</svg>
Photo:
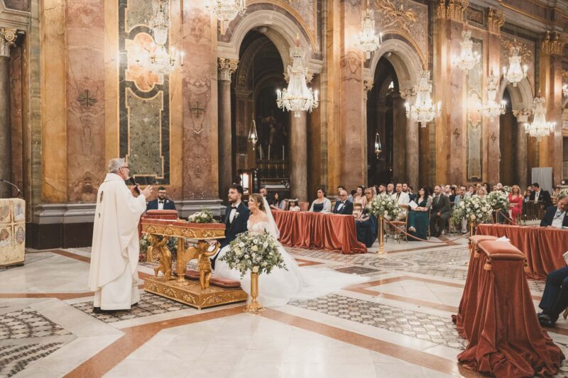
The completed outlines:
<svg viewBox="0 0 568 378">
<path fill-rule="evenodd" d="M 0 267 L 23 265 L 26 251 L 26 201 L 0 199 Z"/>
</svg>

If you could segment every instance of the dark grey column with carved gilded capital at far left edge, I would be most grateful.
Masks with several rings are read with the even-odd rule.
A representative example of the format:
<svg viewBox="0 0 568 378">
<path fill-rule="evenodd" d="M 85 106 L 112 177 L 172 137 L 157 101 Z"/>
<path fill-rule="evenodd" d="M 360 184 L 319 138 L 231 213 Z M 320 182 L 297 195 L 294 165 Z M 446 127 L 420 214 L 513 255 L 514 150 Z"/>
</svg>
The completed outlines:
<svg viewBox="0 0 568 378">
<path fill-rule="evenodd" d="M 10 48 L 16 29 L 0 28 L 0 179 L 11 181 Z M 0 198 L 12 196 L 12 187 L 0 185 Z"/>
</svg>

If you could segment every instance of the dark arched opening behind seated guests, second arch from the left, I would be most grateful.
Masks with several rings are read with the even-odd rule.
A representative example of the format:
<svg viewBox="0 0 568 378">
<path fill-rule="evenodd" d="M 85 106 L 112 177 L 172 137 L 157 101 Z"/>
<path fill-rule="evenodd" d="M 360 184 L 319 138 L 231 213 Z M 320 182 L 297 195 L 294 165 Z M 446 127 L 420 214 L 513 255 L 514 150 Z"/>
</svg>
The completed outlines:
<svg viewBox="0 0 568 378">
<path fill-rule="evenodd" d="M 385 57 L 378 61 L 373 89 L 367 97 L 367 179 L 368 184 L 386 184 L 401 178 L 404 160 L 395 155 L 403 152 L 405 115 L 400 98 L 398 78 L 391 62 Z M 402 107 L 402 109 L 401 109 Z M 401 117 L 402 116 L 402 117 Z M 376 155 L 376 134 L 382 151 Z M 402 165 L 400 165 L 402 162 Z"/>
</svg>

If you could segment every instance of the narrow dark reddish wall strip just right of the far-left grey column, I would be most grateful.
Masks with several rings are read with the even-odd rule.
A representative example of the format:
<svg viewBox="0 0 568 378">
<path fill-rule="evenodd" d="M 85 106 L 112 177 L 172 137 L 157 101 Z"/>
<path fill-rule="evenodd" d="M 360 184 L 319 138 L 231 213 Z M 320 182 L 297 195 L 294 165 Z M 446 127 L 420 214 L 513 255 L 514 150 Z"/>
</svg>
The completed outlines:
<svg viewBox="0 0 568 378">
<path fill-rule="evenodd" d="M 11 50 L 10 62 L 10 117 L 11 117 L 11 182 L 23 188 L 23 113 L 22 113 L 22 64 L 23 48 L 16 47 Z M 12 189 L 12 196 L 18 192 Z"/>
</svg>

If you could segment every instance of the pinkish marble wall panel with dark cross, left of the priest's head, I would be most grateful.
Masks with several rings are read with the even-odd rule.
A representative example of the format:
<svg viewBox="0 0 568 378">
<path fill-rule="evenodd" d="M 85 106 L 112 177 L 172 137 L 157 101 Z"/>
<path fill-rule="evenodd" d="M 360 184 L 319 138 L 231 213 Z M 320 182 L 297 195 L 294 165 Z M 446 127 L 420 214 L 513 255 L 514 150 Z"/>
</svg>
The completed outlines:
<svg viewBox="0 0 568 378">
<path fill-rule="evenodd" d="M 67 1 L 67 196 L 95 201 L 104 154 L 104 0 Z"/>
</svg>

